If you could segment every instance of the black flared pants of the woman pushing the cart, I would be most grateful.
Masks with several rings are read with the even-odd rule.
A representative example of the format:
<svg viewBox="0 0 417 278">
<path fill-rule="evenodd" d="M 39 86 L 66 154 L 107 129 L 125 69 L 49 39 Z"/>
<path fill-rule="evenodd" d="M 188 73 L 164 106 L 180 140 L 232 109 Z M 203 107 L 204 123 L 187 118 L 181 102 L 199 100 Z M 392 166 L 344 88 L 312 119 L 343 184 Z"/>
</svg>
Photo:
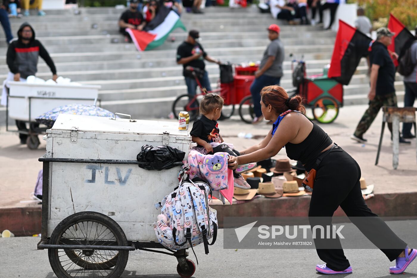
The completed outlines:
<svg viewBox="0 0 417 278">
<path fill-rule="evenodd" d="M 350 217 L 369 217 L 365 224 L 350 218 L 359 230 L 374 243 L 390 261 L 395 260 L 407 244 L 402 241 L 385 222 L 374 214 L 366 205 L 360 188 L 361 169 L 357 162 L 341 148 L 335 148 L 324 159 L 317 169 L 313 194 L 311 195 L 309 217 L 311 227 L 315 225 L 332 225 L 332 216 L 340 206 Z M 317 216 L 326 220 L 317 220 Z M 320 222 L 318 222 L 320 221 Z M 381 242 L 386 240 L 398 246 L 398 249 L 382 249 Z M 317 254 L 327 267 L 341 271 L 349 267 L 349 260 L 344 256 L 339 237 L 335 239 L 314 239 Z M 321 249 L 320 246 L 332 245 L 337 249 Z"/>
</svg>

